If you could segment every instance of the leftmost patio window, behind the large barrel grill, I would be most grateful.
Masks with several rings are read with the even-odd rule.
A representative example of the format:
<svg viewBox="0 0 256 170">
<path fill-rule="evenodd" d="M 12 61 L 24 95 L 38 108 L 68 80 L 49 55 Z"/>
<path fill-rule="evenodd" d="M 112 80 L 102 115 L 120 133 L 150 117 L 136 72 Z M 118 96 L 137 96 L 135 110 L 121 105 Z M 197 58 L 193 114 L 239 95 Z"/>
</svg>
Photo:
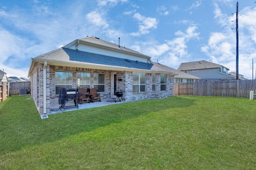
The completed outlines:
<svg viewBox="0 0 256 170">
<path fill-rule="evenodd" d="M 55 94 L 59 94 L 59 88 L 72 88 L 72 72 L 55 72 Z"/>
</svg>

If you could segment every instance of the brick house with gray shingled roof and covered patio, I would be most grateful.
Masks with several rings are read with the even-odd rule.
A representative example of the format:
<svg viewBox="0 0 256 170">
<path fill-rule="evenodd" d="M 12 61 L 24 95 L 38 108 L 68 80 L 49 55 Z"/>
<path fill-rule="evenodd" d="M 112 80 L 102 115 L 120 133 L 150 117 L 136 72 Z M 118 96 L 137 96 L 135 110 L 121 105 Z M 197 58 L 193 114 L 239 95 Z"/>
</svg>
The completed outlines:
<svg viewBox="0 0 256 170">
<path fill-rule="evenodd" d="M 134 101 L 174 95 L 177 74 L 153 63 L 149 56 L 101 40 L 76 39 L 62 48 L 31 59 L 28 77 L 40 115 L 58 104 L 59 88 L 96 88 L 102 99 Z"/>
</svg>

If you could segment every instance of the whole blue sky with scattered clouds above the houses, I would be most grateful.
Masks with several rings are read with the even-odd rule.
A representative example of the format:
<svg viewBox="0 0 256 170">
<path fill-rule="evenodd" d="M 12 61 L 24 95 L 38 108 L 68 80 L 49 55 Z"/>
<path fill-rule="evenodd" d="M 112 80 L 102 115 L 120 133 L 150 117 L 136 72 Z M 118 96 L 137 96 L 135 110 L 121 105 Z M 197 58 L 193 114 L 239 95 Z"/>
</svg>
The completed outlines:
<svg viewBox="0 0 256 170">
<path fill-rule="evenodd" d="M 1 0 L 0 69 L 27 77 L 31 58 L 96 36 L 153 62 L 212 60 L 236 70 L 237 0 Z M 256 63 L 256 2 L 239 2 L 239 73 Z M 256 65 L 254 64 L 254 70 Z M 255 77 L 255 72 L 254 72 Z"/>
</svg>

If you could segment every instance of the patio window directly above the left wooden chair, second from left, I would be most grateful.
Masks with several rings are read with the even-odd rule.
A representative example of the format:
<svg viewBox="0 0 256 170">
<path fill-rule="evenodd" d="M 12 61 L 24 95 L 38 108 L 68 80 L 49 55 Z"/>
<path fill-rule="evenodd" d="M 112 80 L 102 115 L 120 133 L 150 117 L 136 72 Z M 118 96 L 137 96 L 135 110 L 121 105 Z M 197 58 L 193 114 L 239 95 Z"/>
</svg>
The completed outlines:
<svg viewBox="0 0 256 170">
<path fill-rule="evenodd" d="M 76 88 L 90 88 L 89 72 L 76 72 Z"/>
</svg>

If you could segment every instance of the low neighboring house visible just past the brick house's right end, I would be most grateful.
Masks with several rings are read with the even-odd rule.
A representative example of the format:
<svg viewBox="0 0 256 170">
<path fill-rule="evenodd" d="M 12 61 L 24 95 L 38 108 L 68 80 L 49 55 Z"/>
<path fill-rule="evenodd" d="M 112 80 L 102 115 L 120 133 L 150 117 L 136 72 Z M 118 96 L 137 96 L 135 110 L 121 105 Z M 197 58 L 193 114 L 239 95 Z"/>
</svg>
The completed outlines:
<svg viewBox="0 0 256 170">
<path fill-rule="evenodd" d="M 182 82 L 198 82 L 198 80 L 200 80 L 199 77 L 193 76 L 193 75 L 185 73 L 183 71 L 176 70 L 174 68 L 165 66 L 165 65 L 160 64 L 160 63 L 154 63 L 154 65 L 157 65 L 161 69 L 166 69 L 170 72 L 174 72 L 174 73 L 178 74 L 178 75 L 174 76 L 174 82 L 175 83 L 177 83 L 177 82 L 181 82 L 181 83 Z"/>
</svg>

